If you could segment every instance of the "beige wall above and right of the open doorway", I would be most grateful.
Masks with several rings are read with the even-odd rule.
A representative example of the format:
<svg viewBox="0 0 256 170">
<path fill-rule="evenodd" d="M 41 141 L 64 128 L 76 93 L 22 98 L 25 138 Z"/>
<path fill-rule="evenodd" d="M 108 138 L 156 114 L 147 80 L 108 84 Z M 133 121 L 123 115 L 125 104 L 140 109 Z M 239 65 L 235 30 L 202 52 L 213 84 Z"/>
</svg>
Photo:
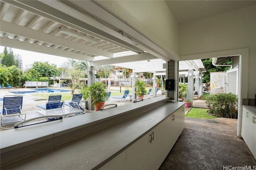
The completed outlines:
<svg viewBox="0 0 256 170">
<path fill-rule="evenodd" d="M 179 25 L 180 56 L 241 48 L 249 48 L 248 98 L 255 98 L 256 6 Z"/>
</svg>

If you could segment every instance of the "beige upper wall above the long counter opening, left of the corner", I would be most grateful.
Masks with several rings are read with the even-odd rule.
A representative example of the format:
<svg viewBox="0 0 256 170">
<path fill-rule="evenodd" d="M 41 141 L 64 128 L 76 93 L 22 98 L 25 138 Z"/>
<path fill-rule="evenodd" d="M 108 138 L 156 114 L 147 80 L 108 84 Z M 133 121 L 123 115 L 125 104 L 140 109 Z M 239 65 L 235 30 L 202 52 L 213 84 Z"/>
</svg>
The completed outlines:
<svg viewBox="0 0 256 170">
<path fill-rule="evenodd" d="M 178 23 L 164 1 L 100 1 L 154 43 L 178 54 Z"/>
</svg>

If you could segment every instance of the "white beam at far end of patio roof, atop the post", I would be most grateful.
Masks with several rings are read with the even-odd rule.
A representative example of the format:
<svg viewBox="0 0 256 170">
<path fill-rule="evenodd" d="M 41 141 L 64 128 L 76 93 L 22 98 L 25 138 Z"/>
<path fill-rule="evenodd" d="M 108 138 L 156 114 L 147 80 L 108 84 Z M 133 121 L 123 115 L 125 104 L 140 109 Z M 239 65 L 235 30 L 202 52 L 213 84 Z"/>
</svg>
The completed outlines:
<svg viewBox="0 0 256 170">
<path fill-rule="evenodd" d="M 136 55 L 128 55 L 124 57 L 116 57 L 112 59 L 104 59 L 104 60 L 98 60 L 98 61 L 92 61 L 91 66 L 101 66 L 101 65 L 111 65 L 116 63 L 126 63 L 131 61 L 143 61 L 143 60 L 150 60 L 150 59 L 156 59 L 152 54 L 149 53 L 143 53 L 143 54 L 136 54 Z"/>
</svg>

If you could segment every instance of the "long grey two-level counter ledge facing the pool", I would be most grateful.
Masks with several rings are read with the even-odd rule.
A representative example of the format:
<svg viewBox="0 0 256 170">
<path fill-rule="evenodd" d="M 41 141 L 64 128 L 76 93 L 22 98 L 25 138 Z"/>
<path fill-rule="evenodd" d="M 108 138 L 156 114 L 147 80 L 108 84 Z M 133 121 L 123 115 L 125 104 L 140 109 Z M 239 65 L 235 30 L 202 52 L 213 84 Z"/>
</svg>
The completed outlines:
<svg viewBox="0 0 256 170">
<path fill-rule="evenodd" d="M 98 169 L 184 105 L 158 97 L 1 132 L 1 169 Z"/>
</svg>

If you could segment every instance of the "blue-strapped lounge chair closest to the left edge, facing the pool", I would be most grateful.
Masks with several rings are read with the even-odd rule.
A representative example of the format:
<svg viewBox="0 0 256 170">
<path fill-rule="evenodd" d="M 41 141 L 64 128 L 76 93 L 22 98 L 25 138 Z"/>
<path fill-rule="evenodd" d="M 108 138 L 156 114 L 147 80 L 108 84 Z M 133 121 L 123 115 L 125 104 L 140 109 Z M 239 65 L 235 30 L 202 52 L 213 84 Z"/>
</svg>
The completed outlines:
<svg viewBox="0 0 256 170">
<path fill-rule="evenodd" d="M 14 120 L 14 121 L 2 121 L 3 117 L 13 117 L 13 116 L 20 116 L 23 120 L 26 119 L 26 114 L 21 111 L 22 109 L 22 102 L 23 102 L 23 96 L 22 95 L 6 95 L 3 98 L 3 109 L 1 113 L 1 124 L 2 123 L 12 123 L 17 122 L 20 120 Z M 23 118 L 22 115 L 25 115 Z"/>
</svg>

